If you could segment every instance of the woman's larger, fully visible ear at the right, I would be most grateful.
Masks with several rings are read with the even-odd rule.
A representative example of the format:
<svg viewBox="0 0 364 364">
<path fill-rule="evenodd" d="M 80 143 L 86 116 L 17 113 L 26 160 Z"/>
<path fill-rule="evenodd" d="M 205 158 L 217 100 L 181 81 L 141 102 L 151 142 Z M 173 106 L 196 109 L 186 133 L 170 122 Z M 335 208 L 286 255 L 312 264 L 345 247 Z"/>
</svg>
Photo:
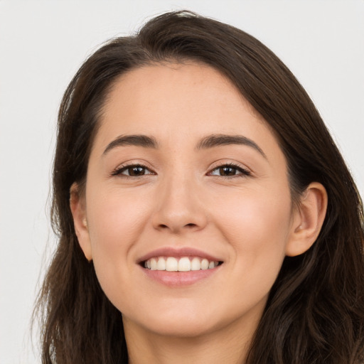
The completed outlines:
<svg viewBox="0 0 364 364">
<path fill-rule="evenodd" d="M 295 257 L 314 244 L 325 220 L 327 193 L 321 183 L 313 182 L 301 196 L 294 211 L 286 255 Z"/>
</svg>

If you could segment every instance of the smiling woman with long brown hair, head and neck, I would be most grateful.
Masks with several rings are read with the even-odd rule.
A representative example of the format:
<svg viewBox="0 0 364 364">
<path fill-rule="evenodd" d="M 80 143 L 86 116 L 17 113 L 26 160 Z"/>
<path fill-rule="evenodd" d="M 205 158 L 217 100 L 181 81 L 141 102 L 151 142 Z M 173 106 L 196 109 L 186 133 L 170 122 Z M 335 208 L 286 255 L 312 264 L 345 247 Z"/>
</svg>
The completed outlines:
<svg viewBox="0 0 364 364">
<path fill-rule="evenodd" d="M 363 207 L 262 43 L 186 11 L 115 38 L 60 107 L 43 363 L 360 363 Z"/>
</svg>

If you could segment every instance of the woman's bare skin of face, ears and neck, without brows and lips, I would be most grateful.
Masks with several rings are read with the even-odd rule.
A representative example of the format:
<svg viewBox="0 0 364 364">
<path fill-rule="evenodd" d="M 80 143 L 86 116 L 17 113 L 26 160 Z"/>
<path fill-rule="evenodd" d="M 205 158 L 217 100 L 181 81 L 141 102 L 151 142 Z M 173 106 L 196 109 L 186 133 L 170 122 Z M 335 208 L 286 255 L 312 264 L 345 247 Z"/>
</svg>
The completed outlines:
<svg viewBox="0 0 364 364">
<path fill-rule="evenodd" d="M 71 188 L 78 240 L 123 314 L 130 363 L 243 363 L 286 255 L 314 243 L 326 192 L 312 183 L 293 208 L 287 164 L 262 117 L 218 71 L 198 63 L 149 65 L 119 77 L 104 107 L 85 195 Z M 121 135 L 158 149 L 107 146 Z M 239 134 L 262 150 L 196 149 L 210 134 Z M 263 155 L 264 154 L 264 155 Z M 146 173 L 115 175 L 125 164 Z M 221 174 L 219 166 L 234 164 Z M 223 264 L 206 279 L 167 287 L 138 259 L 195 247 Z"/>
</svg>

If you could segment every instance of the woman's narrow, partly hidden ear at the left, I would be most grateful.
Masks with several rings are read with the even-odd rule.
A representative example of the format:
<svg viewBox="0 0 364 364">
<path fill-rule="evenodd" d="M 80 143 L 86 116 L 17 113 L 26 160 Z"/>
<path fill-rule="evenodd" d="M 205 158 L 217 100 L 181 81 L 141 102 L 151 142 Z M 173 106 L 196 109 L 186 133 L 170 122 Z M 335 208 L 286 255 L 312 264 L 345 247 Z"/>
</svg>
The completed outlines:
<svg viewBox="0 0 364 364">
<path fill-rule="evenodd" d="M 70 209 L 78 242 L 86 259 L 90 262 L 92 260 L 92 248 L 87 226 L 85 196 L 80 193 L 77 183 L 73 183 L 70 188 Z"/>
</svg>

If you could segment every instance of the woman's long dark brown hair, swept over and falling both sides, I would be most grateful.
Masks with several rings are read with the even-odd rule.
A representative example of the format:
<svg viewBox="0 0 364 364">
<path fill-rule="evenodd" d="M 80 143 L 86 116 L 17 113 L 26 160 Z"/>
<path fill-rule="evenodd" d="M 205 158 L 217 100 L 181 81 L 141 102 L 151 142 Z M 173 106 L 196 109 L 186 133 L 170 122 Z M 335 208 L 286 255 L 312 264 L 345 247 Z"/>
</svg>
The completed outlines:
<svg viewBox="0 0 364 364">
<path fill-rule="evenodd" d="M 220 71 L 266 120 L 284 152 L 296 200 L 313 181 L 328 210 L 309 251 L 286 257 L 247 363 L 338 364 L 364 360 L 363 205 L 309 96 L 271 50 L 218 21 L 179 11 L 114 38 L 88 58 L 65 91 L 53 168 L 59 243 L 38 299 L 43 363 L 127 363 L 122 314 L 109 302 L 75 236 L 70 186 L 85 182 L 105 97 L 132 68 L 196 60 Z"/>
</svg>

